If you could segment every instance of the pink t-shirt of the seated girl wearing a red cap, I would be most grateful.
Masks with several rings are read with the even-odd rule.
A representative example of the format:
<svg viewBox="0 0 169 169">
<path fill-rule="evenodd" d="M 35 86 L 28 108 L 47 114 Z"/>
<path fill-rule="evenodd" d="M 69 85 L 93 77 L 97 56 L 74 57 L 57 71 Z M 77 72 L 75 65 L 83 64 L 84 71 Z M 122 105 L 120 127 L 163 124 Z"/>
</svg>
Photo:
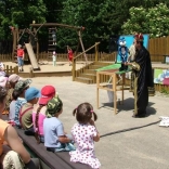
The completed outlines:
<svg viewBox="0 0 169 169">
<path fill-rule="evenodd" d="M 37 108 L 38 108 L 39 105 L 37 105 L 34 110 L 32 110 L 32 125 L 34 125 L 34 130 L 36 131 L 36 114 L 37 114 Z M 40 113 L 39 113 L 39 118 L 38 118 L 38 130 L 39 130 L 39 135 L 43 135 L 43 120 L 46 118 L 46 109 L 47 107 L 43 106 L 41 109 L 40 109 Z"/>
</svg>

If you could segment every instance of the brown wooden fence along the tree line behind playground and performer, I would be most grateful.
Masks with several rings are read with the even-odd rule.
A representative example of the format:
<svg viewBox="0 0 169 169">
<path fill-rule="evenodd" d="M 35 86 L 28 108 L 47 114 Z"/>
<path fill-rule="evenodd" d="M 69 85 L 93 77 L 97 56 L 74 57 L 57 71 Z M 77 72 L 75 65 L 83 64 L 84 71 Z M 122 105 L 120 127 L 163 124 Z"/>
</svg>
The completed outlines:
<svg viewBox="0 0 169 169">
<path fill-rule="evenodd" d="M 165 56 L 169 55 L 169 36 L 168 37 L 161 37 L 161 38 L 154 38 L 150 39 L 148 41 L 148 51 L 151 53 L 152 62 L 164 62 Z M 78 53 L 79 54 L 79 53 Z M 94 53 L 87 53 L 88 61 L 94 61 L 95 54 Z M 25 60 L 27 60 L 28 56 L 26 54 Z M 107 54 L 107 53 L 99 53 L 99 61 L 109 61 L 114 62 L 115 57 L 114 55 Z M 47 61 L 48 58 L 48 52 L 41 52 L 39 53 L 39 61 Z M 57 53 L 57 61 L 58 62 L 65 62 L 67 61 L 67 53 Z M 8 54 L 0 54 L 0 62 L 12 62 L 12 53 Z M 51 57 L 52 61 L 52 57 Z M 81 55 L 77 58 L 77 61 L 84 61 L 84 56 Z"/>
</svg>

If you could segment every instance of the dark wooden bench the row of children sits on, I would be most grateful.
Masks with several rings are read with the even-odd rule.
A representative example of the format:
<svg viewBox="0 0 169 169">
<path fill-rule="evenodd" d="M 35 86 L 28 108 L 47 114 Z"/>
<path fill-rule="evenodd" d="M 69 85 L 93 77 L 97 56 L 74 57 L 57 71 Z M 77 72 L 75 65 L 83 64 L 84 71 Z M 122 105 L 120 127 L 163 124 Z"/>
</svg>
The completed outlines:
<svg viewBox="0 0 169 169">
<path fill-rule="evenodd" d="M 24 145 L 41 160 L 42 169 L 91 169 L 90 166 L 72 162 L 68 152 L 48 152 L 44 145 L 37 144 L 35 136 L 25 135 L 24 130 L 15 128 Z"/>
</svg>

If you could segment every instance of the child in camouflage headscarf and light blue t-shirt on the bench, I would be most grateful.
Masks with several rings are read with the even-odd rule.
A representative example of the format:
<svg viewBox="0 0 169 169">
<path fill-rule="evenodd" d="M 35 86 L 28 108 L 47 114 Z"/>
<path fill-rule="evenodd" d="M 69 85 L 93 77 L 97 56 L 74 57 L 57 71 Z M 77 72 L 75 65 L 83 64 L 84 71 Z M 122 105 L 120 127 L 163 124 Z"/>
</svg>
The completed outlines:
<svg viewBox="0 0 169 169">
<path fill-rule="evenodd" d="M 53 98 L 47 104 L 47 112 L 43 122 L 44 131 L 44 146 L 51 152 L 61 151 L 75 151 L 75 147 L 69 142 L 70 135 L 65 135 L 63 123 L 58 119 L 58 116 L 63 112 L 63 103 L 58 96 Z M 66 144 L 69 143 L 69 144 Z"/>
</svg>

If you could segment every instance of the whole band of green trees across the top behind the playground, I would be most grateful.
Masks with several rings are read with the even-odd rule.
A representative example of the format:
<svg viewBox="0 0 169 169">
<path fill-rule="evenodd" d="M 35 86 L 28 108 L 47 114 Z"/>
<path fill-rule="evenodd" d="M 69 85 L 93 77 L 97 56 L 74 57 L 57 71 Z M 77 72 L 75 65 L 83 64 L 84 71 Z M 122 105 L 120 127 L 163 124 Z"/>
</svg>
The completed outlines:
<svg viewBox="0 0 169 169">
<path fill-rule="evenodd" d="M 107 52 L 113 35 L 133 31 L 152 34 L 152 37 L 169 35 L 168 5 L 166 0 L 0 0 L 0 39 L 12 39 L 11 25 L 27 28 L 32 21 L 60 23 L 83 26 L 84 48 L 101 41 L 100 51 Z M 77 31 L 56 28 L 57 49 L 66 51 L 66 46 L 70 46 L 75 51 Z M 40 28 L 38 34 L 39 40 L 48 46 L 47 27 Z"/>
</svg>

